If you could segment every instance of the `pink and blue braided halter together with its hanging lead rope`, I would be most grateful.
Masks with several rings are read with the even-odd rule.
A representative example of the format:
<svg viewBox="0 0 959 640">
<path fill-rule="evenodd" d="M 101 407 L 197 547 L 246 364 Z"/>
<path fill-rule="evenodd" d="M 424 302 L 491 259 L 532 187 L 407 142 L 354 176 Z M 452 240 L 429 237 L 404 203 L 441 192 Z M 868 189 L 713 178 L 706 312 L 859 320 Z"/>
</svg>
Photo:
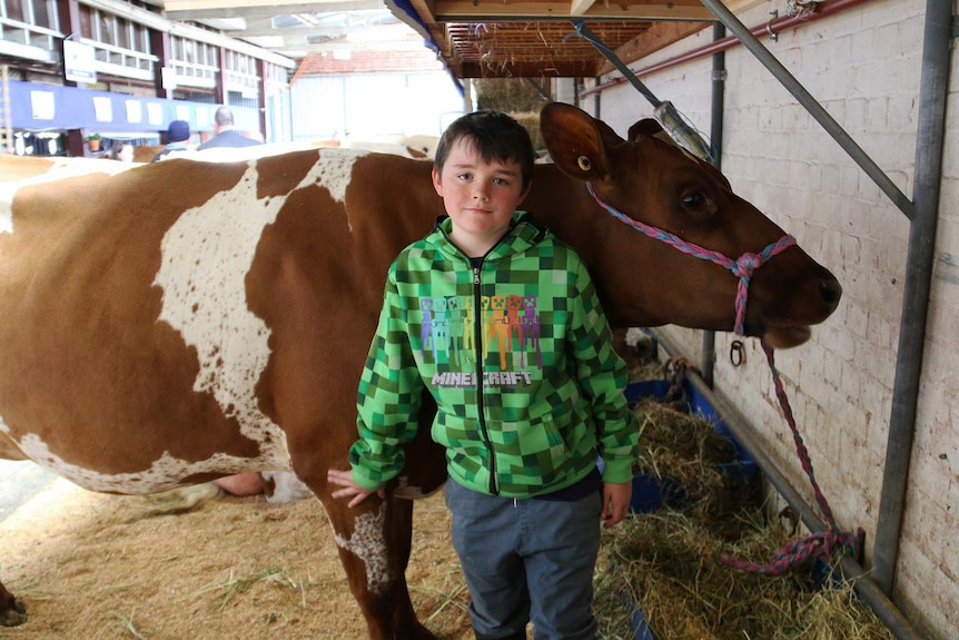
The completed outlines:
<svg viewBox="0 0 959 640">
<path fill-rule="evenodd" d="M 586 189 L 590 191 L 590 195 L 593 196 L 593 199 L 595 199 L 601 207 L 606 209 L 606 211 L 612 214 L 612 216 L 620 221 L 627 224 L 632 228 L 649 236 L 650 238 L 662 240 L 668 245 L 672 246 L 673 248 L 683 252 L 684 254 L 689 254 L 693 257 L 710 260 L 720 266 L 723 266 L 730 272 L 732 272 L 734 276 L 739 277 L 735 298 L 736 318 L 734 328 L 736 335 L 743 335 L 743 323 L 745 321 L 745 303 L 747 296 L 749 294 L 749 283 L 750 278 L 752 278 L 753 272 L 755 272 L 757 268 L 759 268 L 771 257 L 782 253 L 784 249 L 795 244 L 795 238 L 793 236 L 785 235 L 777 242 L 767 246 L 759 254 L 745 253 L 741 255 L 739 259 L 733 260 L 719 252 L 705 249 L 693 243 L 688 243 L 686 240 L 669 232 L 665 232 L 658 227 L 653 227 L 651 225 L 646 225 L 645 223 L 641 223 L 639 220 L 634 220 L 633 218 L 607 205 L 605 200 L 603 200 L 599 196 L 599 194 L 596 194 L 596 191 L 593 189 L 593 185 L 590 183 L 586 183 Z M 795 443 L 795 451 L 799 454 L 802 470 L 809 476 L 809 482 L 810 484 L 812 484 L 812 490 L 815 493 L 817 504 L 819 505 L 819 509 L 822 512 L 823 520 L 828 524 L 829 529 L 790 542 L 789 544 L 777 551 L 773 554 L 772 562 L 769 562 L 767 564 L 743 562 L 740 560 L 735 560 L 729 555 L 722 555 L 720 558 L 720 562 L 723 562 L 724 564 L 728 564 L 733 569 L 738 569 L 740 571 L 745 571 L 749 573 L 779 575 L 781 573 L 784 573 L 792 567 L 812 558 L 828 561 L 829 559 L 831 559 L 833 552 L 839 547 L 847 548 L 852 552 L 853 555 L 858 555 L 858 538 L 851 532 L 840 531 L 840 529 L 837 526 L 836 519 L 832 516 L 832 509 L 830 509 L 829 502 L 825 500 L 825 496 L 822 494 L 822 491 L 819 488 L 819 483 L 815 481 L 815 473 L 812 470 L 812 461 L 809 456 L 809 450 L 802 442 L 802 436 L 799 434 L 799 430 L 795 426 L 795 417 L 793 416 L 792 407 L 790 406 L 789 398 L 785 395 L 785 388 L 782 385 L 782 380 L 780 378 L 779 371 L 777 371 L 775 368 L 773 349 L 769 344 L 767 344 L 765 341 L 760 342 L 762 344 L 762 349 L 765 353 L 767 361 L 769 362 L 769 368 L 772 372 L 772 378 L 775 385 L 775 396 L 779 400 L 780 407 L 782 408 L 783 417 L 785 417 L 785 421 L 789 424 L 789 429 L 792 431 L 792 437 Z"/>
</svg>

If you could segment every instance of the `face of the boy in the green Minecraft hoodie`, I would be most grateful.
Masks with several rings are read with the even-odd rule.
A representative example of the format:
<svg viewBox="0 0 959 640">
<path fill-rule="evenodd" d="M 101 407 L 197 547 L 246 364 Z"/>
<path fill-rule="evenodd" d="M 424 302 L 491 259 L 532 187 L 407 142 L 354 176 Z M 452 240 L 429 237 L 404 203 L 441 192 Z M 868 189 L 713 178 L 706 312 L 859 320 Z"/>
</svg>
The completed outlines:
<svg viewBox="0 0 959 640">
<path fill-rule="evenodd" d="M 484 255 L 506 234 L 530 191 L 518 163 L 486 163 L 466 138 L 454 142 L 442 174 L 433 168 L 433 187 L 453 220 L 453 242 L 469 257 Z"/>
</svg>

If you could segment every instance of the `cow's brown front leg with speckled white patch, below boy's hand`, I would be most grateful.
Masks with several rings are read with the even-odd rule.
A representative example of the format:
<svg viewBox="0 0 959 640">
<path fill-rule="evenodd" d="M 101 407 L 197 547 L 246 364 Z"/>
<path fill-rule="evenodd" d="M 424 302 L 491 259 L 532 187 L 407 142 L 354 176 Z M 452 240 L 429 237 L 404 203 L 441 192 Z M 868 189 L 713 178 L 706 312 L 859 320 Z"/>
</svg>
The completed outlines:
<svg viewBox="0 0 959 640">
<path fill-rule="evenodd" d="M 416 619 L 406 587 L 413 539 L 413 502 L 370 496 L 357 509 L 324 499 L 346 569 L 372 640 L 435 640 Z"/>
</svg>

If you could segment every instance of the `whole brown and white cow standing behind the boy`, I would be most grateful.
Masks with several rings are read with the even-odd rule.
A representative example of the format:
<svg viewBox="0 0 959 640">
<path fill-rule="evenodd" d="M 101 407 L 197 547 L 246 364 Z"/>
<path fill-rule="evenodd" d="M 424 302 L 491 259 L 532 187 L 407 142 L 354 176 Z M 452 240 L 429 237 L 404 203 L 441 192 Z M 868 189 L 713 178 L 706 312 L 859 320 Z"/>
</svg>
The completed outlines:
<svg viewBox="0 0 959 640">
<path fill-rule="evenodd" d="M 584 257 L 611 323 L 731 329 L 739 278 L 632 230 L 584 180 L 626 215 L 733 258 L 783 232 L 649 124 L 623 140 L 552 105 L 542 129 L 555 166 L 536 167 L 525 208 Z M 443 213 L 431 164 L 323 149 L 87 165 L 19 186 L 47 167 L 0 164 L 0 453 L 115 493 L 293 470 L 326 508 L 369 636 L 432 638 L 404 578 L 413 502 L 397 498 L 445 480 L 429 430 L 386 500 L 349 510 L 326 484 L 356 439 L 387 266 Z M 2 183 L 14 175 L 16 190 Z M 839 297 L 836 278 L 789 247 L 753 275 L 745 333 L 799 344 Z M 0 620 L 23 619 L 0 585 Z"/>
</svg>

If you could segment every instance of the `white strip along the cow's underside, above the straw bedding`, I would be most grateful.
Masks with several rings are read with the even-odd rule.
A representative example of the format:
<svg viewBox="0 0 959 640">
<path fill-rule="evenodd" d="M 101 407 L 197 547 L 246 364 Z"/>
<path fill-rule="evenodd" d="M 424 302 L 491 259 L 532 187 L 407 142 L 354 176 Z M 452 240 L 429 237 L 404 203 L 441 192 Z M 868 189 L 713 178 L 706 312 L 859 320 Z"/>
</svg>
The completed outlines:
<svg viewBox="0 0 959 640">
<path fill-rule="evenodd" d="M 6 425 L 2 426 L 9 435 Z M 145 471 L 106 475 L 71 464 L 55 455 L 50 452 L 47 443 L 32 433 L 24 435 L 17 444 L 37 464 L 57 472 L 83 489 L 100 492 L 152 493 L 172 489 L 179 484 L 178 479 L 196 473 L 230 473 L 249 467 L 248 460 L 223 453 L 214 454 L 207 460 L 188 462 L 172 457 L 168 452 L 165 452 Z"/>
</svg>

